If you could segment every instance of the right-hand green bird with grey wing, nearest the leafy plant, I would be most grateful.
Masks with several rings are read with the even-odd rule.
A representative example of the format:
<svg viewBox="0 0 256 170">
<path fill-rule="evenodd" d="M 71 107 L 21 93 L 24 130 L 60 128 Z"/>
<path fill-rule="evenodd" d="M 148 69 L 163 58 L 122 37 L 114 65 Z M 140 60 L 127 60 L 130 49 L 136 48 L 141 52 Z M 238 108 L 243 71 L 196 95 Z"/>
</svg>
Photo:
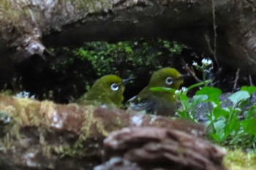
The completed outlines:
<svg viewBox="0 0 256 170">
<path fill-rule="evenodd" d="M 174 93 L 152 91 L 150 88 L 163 87 L 178 89 L 183 83 L 184 77 L 176 69 L 170 67 L 159 69 L 152 74 L 146 88 L 143 88 L 137 96 L 127 101 L 132 103 L 129 108 L 156 115 L 174 115 L 178 107 Z"/>
</svg>

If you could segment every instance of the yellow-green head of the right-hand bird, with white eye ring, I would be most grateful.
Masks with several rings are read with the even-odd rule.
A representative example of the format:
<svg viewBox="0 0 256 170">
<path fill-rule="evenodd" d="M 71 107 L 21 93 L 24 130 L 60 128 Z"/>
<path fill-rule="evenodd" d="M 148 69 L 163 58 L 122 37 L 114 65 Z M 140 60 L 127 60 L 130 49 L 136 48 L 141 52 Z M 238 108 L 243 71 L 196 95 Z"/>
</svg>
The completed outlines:
<svg viewBox="0 0 256 170">
<path fill-rule="evenodd" d="M 182 83 L 181 74 L 176 69 L 166 67 L 152 74 L 148 88 L 165 87 L 178 89 Z"/>
</svg>

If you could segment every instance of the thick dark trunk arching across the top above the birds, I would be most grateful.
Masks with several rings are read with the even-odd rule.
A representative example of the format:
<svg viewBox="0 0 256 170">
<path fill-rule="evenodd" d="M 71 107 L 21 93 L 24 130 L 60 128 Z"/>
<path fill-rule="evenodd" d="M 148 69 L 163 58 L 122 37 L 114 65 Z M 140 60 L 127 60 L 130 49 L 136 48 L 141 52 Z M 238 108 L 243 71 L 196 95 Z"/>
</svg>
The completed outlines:
<svg viewBox="0 0 256 170">
<path fill-rule="evenodd" d="M 256 74 L 255 1 L 4 0 L 1 6 L 0 49 L 14 47 L 16 62 L 31 55 L 47 60 L 50 46 L 161 36 Z"/>
</svg>

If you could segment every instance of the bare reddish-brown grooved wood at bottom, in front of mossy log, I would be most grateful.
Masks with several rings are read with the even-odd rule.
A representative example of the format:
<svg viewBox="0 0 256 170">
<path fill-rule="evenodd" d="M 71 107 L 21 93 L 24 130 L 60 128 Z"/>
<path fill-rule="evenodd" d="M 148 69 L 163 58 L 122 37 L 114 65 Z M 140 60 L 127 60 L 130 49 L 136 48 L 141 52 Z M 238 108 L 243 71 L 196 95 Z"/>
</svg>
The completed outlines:
<svg viewBox="0 0 256 170">
<path fill-rule="evenodd" d="M 140 169 L 225 170 L 222 148 L 174 129 L 124 128 L 111 133 L 104 144 L 107 157 L 137 163 Z M 98 169 L 122 169 L 125 163 L 116 163 L 114 158 Z"/>
</svg>

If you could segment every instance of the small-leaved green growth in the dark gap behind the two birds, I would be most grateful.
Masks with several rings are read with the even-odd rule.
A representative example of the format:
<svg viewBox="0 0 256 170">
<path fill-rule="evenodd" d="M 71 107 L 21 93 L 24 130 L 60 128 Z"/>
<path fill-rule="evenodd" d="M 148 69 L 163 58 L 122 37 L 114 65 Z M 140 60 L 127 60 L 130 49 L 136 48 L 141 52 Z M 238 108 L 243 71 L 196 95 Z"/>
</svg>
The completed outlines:
<svg viewBox="0 0 256 170">
<path fill-rule="evenodd" d="M 97 76 L 118 74 L 134 77 L 138 68 L 159 69 L 175 54 L 180 54 L 184 45 L 162 39 L 131 42 L 89 42 L 73 50 L 75 58 L 91 63 Z M 165 64 L 166 65 L 166 64 Z M 125 70 L 121 73 L 120 70 Z"/>
</svg>

